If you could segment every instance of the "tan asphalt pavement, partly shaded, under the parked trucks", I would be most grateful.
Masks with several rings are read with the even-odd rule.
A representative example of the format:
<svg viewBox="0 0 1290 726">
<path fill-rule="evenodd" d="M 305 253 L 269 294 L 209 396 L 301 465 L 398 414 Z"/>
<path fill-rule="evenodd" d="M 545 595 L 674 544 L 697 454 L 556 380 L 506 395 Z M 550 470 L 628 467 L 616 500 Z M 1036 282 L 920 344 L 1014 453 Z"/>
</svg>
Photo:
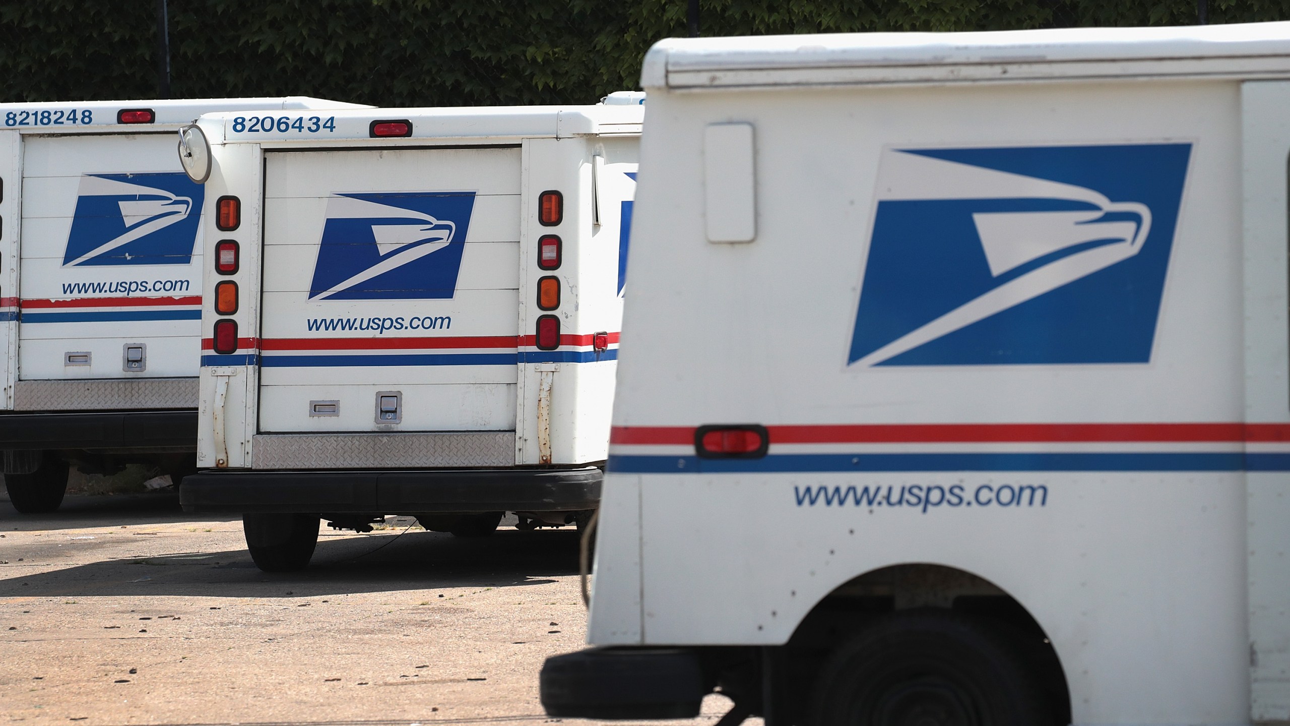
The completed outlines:
<svg viewBox="0 0 1290 726">
<path fill-rule="evenodd" d="M 0 495 L 0 722 L 557 722 L 538 670 L 586 623 L 573 528 L 324 526 L 306 571 L 270 575 L 240 519 L 184 514 L 173 491 L 44 515 Z"/>
</svg>

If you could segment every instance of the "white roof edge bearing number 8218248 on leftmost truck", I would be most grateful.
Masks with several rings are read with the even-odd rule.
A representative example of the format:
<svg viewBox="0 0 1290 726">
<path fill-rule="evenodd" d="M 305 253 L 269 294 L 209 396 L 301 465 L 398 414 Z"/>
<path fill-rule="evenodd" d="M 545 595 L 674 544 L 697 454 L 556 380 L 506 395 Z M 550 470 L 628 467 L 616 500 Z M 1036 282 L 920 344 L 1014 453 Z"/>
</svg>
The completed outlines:
<svg viewBox="0 0 1290 726">
<path fill-rule="evenodd" d="M 154 112 L 154 120 L 148 124 L 120 124 L 117 123 L 117 111 L 124 110 L 138 110 L 147 109 Z M 361 103 L 346 103 L 342 101 L 328 101 L 325 98 L 311 98 L 308 96 L 285 96 L 277 98 L 182 98 L 182 99 L 160 99 L 160 98 L 142 98 L 142 99 L 125 99 L 125 101 L 53 101 L 49 103 L 44 102 L 22 102 L 22 103 L 0 103 L 0 128 L 17 130 L 21 133 L 75 133 L 84 132 L 85 127 L 93 127 L 95 129 L 102 129 L 103 127 L 115 127 L 119 129 L 130 130 L 156 130 L 161 127 L 164 130 L 173 130 L 182 124 L 191 124 L 203 114 L 209 114 L 212 111 L 252 111 L 252 110 L 285 110 L 285 109 L 370 109 L 370 106 L 364 106 Z M 18 114 L 36 112 L 37 116 L 35 121 L 28 119 L 26 124 L 18 124 Z M 39 116 L 41 111 L 90 111 L 92 121 L 89 124 L 80 123 L 62 123 L 57 124 L 52 120 L 43 121 Z M 14 123 L 9 123 L 6 116 L 14 114 Z"/>
</svg>

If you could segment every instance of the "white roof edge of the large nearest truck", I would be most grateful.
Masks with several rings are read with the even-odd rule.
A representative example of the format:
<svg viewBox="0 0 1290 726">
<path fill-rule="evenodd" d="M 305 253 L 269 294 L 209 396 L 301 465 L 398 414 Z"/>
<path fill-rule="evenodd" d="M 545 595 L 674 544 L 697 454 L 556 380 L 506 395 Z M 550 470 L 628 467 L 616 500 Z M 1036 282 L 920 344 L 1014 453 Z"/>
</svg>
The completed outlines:
<svg viewBox="0 0 1290 726">
<path fill-rule="evenodd" d="M 1290 22 L 668 39 L 641 87 L 869 85 L 1290 76 Z"/>
</svg>

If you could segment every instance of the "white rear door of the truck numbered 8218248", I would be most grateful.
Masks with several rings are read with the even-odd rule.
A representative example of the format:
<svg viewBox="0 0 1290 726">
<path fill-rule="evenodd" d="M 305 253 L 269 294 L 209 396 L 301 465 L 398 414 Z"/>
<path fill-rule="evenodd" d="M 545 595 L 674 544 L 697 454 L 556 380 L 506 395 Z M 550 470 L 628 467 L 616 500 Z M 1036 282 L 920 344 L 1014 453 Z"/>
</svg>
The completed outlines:
<svg viewBox="0 0 1290 726">
<path fill-rule="evenodd" d="M 28 136 L 22 168 L 18 377 L 196 376 L 204 196 L 174 136 Z"/>
</svg>

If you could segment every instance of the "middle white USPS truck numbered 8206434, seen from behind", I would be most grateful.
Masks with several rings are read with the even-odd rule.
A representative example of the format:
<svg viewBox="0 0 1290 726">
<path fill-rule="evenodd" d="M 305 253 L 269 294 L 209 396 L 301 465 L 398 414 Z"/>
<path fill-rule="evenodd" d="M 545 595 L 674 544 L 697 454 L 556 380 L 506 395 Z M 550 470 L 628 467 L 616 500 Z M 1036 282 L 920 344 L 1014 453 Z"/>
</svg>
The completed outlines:
<svg viewBox="0 0 1290 726">
<path fill-rule="evenodd" d="M 320 518 L 493 532 L 586 521 L 609 442 L 644 109 L 212 114 L 190 512 L 263 570 Z M 334 120 L 334 123 L 332 123 Z M 209 178 L 206 178 L 209 176 Z"/>
</svg>

